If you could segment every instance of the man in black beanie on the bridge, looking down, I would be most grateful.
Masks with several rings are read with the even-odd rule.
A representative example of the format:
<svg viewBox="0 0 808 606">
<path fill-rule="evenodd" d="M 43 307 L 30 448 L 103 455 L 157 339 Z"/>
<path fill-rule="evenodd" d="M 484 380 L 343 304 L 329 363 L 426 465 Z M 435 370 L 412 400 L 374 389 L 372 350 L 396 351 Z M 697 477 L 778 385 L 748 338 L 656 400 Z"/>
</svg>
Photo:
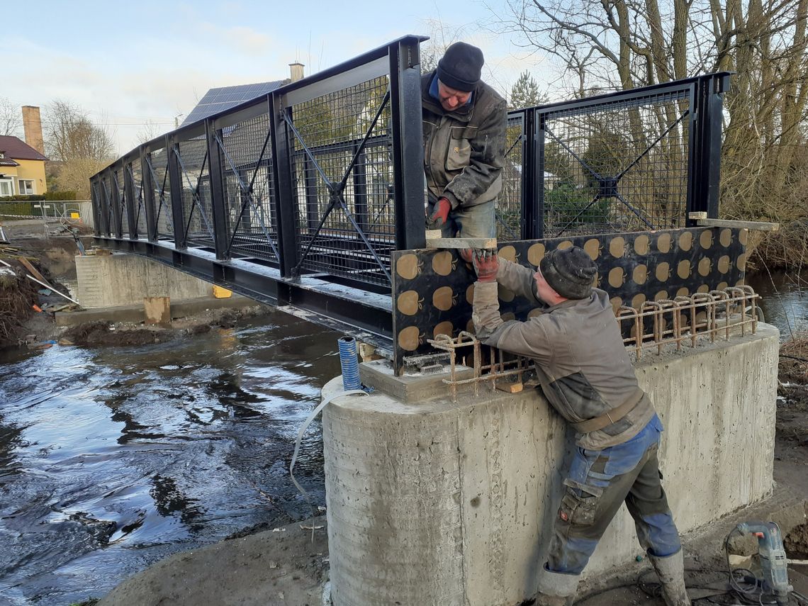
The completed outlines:
<svg viewBox="0 0 808 606">
<path fill-rule="evenodd" d="M 482 51 L 455 42 L 421 77 L 427 229 L 444 238 L 494 238 L 507 105 L 480 79 Z"/>
</svg>

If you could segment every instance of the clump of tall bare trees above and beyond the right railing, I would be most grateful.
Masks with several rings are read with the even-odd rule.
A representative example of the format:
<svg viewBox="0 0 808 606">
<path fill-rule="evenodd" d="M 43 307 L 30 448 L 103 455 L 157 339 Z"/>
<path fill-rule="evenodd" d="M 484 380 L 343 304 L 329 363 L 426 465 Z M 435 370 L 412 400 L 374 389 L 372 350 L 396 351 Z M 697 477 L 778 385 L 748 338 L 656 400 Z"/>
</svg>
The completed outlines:
<svg viewBox="0 0 808 606">
<path fill-rule="evenodd" d="M 797 151 L 808 118 L 808 0 L 511 0 L 509 8 L 502 30 L 555 57 L 574 95 L 734 71 L 722 213 L 808 215 L 806 196 L 794 195 L 806 168 Z"/>
</svg>

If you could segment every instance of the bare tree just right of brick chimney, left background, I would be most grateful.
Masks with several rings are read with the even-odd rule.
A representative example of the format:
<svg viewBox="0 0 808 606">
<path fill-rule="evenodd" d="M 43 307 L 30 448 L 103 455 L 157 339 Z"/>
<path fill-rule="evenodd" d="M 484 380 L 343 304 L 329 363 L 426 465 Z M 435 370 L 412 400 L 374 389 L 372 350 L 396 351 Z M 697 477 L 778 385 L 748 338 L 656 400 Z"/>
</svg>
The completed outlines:
<svg viewBox="0 0 808 606">
<path fill-rule="evenodd" d="M 112 136 L 78 105 L 57 99 L 45 108 L 48 157 L 59 162 L 56 186 L 90 196 L 90 177 L 115 158 Z"/>
</svg>

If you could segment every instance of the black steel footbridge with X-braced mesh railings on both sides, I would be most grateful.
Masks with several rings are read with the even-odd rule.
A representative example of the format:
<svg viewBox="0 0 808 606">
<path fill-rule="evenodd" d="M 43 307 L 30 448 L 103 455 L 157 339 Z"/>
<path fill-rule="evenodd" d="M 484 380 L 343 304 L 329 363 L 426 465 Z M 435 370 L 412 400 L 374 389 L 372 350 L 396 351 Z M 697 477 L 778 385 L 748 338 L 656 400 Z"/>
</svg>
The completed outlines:
<svg viewBox="0 0 808 606">
<path fill-rule="evenodd" d="M 140 145 L 90 179 L 96 237 L 390 346 L 392 254 L 426 244 L 423 40 Z M 499 240 L 715 217 L 727 86 L 710 74 L 510 112 Z"/>
</svg>

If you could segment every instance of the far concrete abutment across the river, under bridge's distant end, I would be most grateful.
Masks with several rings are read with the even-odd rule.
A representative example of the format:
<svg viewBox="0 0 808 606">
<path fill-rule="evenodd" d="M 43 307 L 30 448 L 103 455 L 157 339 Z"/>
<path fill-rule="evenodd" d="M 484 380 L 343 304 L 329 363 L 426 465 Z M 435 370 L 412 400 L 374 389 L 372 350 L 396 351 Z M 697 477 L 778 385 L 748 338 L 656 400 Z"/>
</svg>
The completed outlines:
<svg viewBox="0 0 808 606">
<path fill-rule="evenodd" d="M 78 301 L 85 309 L 143 305 L 144 297 L 174 301 L 213 297 L 213 284 L 137 255 L 76 257 Z"/>
</svg>

